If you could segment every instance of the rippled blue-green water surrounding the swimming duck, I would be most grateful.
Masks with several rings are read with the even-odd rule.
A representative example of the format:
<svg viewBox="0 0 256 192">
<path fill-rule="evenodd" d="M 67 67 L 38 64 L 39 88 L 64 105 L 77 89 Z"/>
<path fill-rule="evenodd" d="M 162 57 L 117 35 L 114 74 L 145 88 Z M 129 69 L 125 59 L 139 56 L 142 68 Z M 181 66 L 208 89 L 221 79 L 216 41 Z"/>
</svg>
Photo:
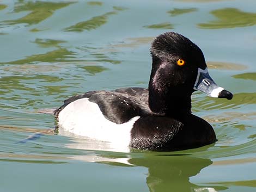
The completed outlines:
<svg viewBox="0 0 256 192">
<path fill-rule="evenodd" d="M 93 150 L 37 113 L 89 90 L 146 87 L 150 42 L 169 30 L 196 42 L 234 94 L 193 94 L 216 144 Z M 254 0 L 0 1 L 0 191 L 255 191 L 255 32 Z M 45 134 L 19 143 L 36 132 Z"/>
</svg>

